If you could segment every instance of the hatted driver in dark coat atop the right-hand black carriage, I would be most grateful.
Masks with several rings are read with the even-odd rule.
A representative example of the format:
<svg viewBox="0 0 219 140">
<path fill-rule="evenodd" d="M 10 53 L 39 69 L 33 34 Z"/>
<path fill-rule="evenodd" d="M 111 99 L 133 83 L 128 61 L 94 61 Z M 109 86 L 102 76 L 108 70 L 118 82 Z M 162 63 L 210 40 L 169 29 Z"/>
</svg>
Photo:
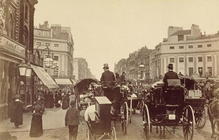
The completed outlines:
<svg viewBox="0 0 219 140">
<path fill-rule="evenodd" d="M 168 72 L 165 73 L 163 82 L 164 82 L 164 88 L 168 86 L 167 80 L 168 79 L 179 79 L 176 72 L 173 71 L 173 64 L 168 65 Z"/>
</svg>

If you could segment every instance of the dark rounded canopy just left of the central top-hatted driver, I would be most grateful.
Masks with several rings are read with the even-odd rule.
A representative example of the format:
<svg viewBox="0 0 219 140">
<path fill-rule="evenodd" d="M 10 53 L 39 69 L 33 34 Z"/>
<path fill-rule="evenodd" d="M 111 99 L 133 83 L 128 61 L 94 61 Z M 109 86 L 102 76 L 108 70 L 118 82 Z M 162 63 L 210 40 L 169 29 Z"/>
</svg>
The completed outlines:
<svg viewBox="0 0 219 140">
<path fill-rule="evenodd" d="M 98 80 L 91 79 L 91 78 L 83 79 L 83 80 L 79 81 L 78 83 L 76 83 L 74 87 L 77 88 L 79 93 L 81 93 L 81 92 L 87 90 L 89 85 L 93 82 L 98 83 Z"/>
</svg>

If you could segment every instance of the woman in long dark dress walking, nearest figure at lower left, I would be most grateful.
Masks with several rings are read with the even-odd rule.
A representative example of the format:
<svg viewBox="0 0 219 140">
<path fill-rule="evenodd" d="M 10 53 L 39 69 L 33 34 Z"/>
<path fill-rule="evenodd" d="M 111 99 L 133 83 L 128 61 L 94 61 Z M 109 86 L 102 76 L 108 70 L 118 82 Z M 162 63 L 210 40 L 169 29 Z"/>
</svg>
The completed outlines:
<svg viewBox="0 0 219 140">
<path fill-rule="evenodd" d="M 42 115 L 43 107 L 39 102 L 37 102 L 34 106 L 32 114 L 30 137 L 39 137 L 43 134 Z"/>
</svg>

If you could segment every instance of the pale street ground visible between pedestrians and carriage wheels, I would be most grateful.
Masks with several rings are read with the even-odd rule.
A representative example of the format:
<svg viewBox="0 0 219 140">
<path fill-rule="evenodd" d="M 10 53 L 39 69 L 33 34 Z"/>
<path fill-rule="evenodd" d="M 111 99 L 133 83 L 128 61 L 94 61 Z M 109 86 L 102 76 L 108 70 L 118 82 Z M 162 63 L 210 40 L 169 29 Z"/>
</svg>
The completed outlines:
<svg viewBox="0 0 219 140">
<path fill-rule="evenodd" d="M 13 125 L 6 121 L 5 128 L 12 135 L 17 136 L 18 140 L 68 140 L 68 129 L 64 127 L 65 111 L 62 109 L 48 109 L 43 116 L 44 135 L 39 138 L 29 137 L 29 128 L 31 115 L 24 117 L 24 125 L 21 128 L 15 129 Z M 83 116 L 83 112 L 81 112 Z M 2 124 L 1 124 L 2 125 Z M 142 118 L 140 114 L 135 114 L 132 117 L 132 123 L 128 125 L 128 134 L 124 136 L 121 133 L 121 127 L 118 124 L 116 127 L 118 140 L 144 140 L 142 129 Z M 84 121 L 79 126 L 78 140 L 86 140 L 87 126 Z M 153 131 L 155 132 L 155 131 Z M 201 130 L 195 130 L 194 140 L 211 140 L 211 130 L 209 121 Z M 177 128 L 176 132 L 167 132 L 166 140 L 183 140 L 182 128 Z M 160 140 L 159 135 L 153 133 L 151 140 Z M 213 139 L 212 139 L 213 140 Z"/>
</svg>

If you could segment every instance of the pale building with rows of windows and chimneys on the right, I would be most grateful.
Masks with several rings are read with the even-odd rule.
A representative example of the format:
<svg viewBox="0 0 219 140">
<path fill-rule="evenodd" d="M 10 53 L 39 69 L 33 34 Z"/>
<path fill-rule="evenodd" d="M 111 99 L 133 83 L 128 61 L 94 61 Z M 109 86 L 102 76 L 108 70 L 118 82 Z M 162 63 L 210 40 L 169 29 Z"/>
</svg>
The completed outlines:
<svg viewBox="0 0 219 140">
<path fill-rule="evenodd" d="M 183 75 L 218 77 L 219 32 L 205 35 L 194 24 L 189 30 L 170 26 L 168 38 L 156 47 L 150 59 L 152 78 L 163 76 L 170 63 L 174 71 Z"/>
</svg>

